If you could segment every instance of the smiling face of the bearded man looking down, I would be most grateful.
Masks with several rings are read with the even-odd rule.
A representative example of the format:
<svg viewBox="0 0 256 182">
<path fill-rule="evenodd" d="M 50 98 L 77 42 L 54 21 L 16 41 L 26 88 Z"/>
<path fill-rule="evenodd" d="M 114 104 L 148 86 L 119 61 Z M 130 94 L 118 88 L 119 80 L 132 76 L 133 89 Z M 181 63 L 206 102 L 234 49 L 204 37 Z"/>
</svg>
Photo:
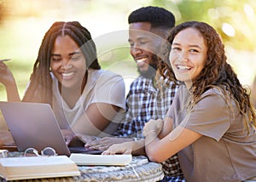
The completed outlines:
<svg viewBox="0 0 256 182">
<path fill-rule="evenodd" d="M 156 69 L 155 54 L 159 53 L 163 41 L 160 32 L 152 30 L 148 22 L 131 23 L 129 26 L 130 53 L 142 74 L 152 68 Z"/>
</svg>

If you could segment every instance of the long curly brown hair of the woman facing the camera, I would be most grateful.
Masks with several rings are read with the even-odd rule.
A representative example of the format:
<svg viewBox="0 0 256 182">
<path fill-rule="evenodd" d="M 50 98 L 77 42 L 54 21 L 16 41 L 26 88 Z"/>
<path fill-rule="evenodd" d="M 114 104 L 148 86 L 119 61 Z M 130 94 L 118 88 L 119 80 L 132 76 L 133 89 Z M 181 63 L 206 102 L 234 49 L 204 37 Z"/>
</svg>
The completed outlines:
<svg viewBox="0 0 256 182">
<path fill-rule="evenodd" d="M 221 88 L 225 93 L 230 93 L 231 98 L 236 101 L 241 114 L 245 118 L 244 122 L 246 123 L 247 129 L 250 124 L 256 127 L 255 111 L 250 100 L 250 94 L 247 93 L 246 88 L 243 88 L 235 71 L 233 71 L 230 64 L 227 63 L 227 57 L 224 53 L 224 44 L 218 32 L 215 31 L 212 26 L 199 21 L 184 22 L 174 27 L 170 32 L 170 36 L 168 37 L 170 44 L 167 45 L 167 48 L 170 49 L 170 45 L 172 45 L 173 39 L 176 37 L 177 33 L 186 28 L 194 28 L 201 32 L 207 46 L 206 64 L 201 73 L 193 79 L 192 87 L 190 88 L 193 94 L 192 100 L 194 101 L 194 105 L 196 100 L 199 100 L 201 94 L 207 91 L 207 89 Z M 163 77 L 166 75 L 166 77 L 169 77 L 172 81 L 178 82 L 169 64 L 161 63 L 159 69 Z"/>
</svg>

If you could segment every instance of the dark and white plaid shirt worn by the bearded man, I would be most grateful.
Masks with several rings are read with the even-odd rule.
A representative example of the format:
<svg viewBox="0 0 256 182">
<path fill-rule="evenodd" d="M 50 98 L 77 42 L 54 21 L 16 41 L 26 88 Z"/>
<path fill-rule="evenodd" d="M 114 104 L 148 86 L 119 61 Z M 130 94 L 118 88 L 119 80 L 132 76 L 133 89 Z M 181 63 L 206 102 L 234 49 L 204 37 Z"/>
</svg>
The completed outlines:
<svg viewBox="0 0 256 182">
<path fill-rule="evenodd" d="M 160 83 L 162 82 L 162 83 Z M 137 77 L 131 83 L 130 91 L 126 97 L 125 121 L 119 124 L 117 132 L 119 137 L 143 138 L 143 127 L 150 119 L 159 119 L 166 116 L 177 86 L 167 78 L 160 78 L 158 86 L 154 87 L 151 79 Z M 166 174 L 164 181 L 184 181 L 177 155 L 162 162 Z"/>
</svg>

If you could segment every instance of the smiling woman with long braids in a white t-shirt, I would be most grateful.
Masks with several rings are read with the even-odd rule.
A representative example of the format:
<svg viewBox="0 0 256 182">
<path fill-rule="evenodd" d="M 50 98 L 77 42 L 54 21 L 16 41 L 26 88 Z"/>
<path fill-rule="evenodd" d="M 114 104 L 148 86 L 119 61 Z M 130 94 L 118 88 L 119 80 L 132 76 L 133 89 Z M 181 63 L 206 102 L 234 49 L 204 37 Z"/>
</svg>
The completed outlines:
<svg viewBox="0 0 256 182">
<path fill-rule="evenodd" d="M 15 79 L 6 65 L 5 73 L 12 82 L 1 82 L 17 101 L 17 94 L 8 92 Z M 55 22 L 44 35 L 22 101 L 51 105 L 58 122 L 68 123 L 61 128 L 65 135 L 72 134 L 72 128 L 75 134 L 104 136 L 115 131 L 117 123 L 111 121 L 119 122 L 115 119 L 125 110 L 125 83 L 101 70 L 96 45 L 84 26 Z"/>
</svg>

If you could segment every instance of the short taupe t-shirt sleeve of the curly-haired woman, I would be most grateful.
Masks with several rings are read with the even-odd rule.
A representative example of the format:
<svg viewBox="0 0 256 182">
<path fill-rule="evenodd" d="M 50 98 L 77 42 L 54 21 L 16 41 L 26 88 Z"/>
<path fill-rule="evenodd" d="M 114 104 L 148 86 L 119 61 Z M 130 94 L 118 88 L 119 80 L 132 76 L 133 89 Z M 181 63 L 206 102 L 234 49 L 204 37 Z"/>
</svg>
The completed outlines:
<svg viewBox="0 0 256 182">
<path fill-rule="evenodd" d="M 223 95 L 204 94 L 181 126 L 218 141 L 230 127 L 230 107 Z"/>
</svg>

